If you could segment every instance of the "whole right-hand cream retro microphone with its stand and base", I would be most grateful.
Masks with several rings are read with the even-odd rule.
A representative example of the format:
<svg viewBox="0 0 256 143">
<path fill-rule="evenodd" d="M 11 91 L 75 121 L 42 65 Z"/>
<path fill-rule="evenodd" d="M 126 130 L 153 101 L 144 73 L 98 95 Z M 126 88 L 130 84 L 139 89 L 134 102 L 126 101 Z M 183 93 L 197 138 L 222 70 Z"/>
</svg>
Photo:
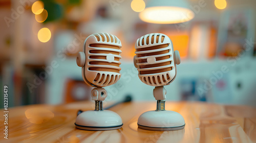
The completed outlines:
<svg viewBox="0 0 256 143">
<path fill-rule="evenodd" d="M 140 115 L 138 127 L 146 130 L 169 131 L 185 127 L 184 118 L 174 111 L 165 110 L 166 90 L 176 77 L 176 64 L 180 64 L 179 51 L 174 51 L 168 36 L 152 33 L 140 37 L 135 44 L 134 65 L 139 71 L 139 79 L 155 86 L 153 94 L 157 100 L 155 111 Z"/>
</svg>

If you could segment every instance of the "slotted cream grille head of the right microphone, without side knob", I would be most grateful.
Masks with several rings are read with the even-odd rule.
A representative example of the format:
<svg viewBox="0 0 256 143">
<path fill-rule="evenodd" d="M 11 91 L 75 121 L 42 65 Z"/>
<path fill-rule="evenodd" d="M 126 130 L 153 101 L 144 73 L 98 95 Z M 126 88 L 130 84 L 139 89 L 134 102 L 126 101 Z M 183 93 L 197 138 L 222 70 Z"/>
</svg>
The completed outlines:
<svg viewBox="0 0 256 143">
<path fill-rule="evenodd" d="M 147 34 L 135 45 L 140 80 L 151 86 L 170 83 L 175 76 L 173 48 L 170 39 L 160 33 Z"/>
</svg>

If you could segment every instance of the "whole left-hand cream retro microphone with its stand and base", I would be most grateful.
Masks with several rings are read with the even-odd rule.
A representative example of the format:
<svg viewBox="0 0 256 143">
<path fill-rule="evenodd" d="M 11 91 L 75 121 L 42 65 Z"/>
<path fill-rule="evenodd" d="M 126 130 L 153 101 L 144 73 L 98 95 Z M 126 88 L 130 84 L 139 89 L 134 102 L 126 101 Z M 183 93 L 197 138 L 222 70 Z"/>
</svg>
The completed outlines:
<svg viewBox="0 0 256 143">
<path fill-rule="evenodd" d="M 113 130 L 122 127 L 121 117 L 109 110 L 103 110 L 102 101 L 108 93 L 102 87 L 116 83 L 120 77 L 121 41 L 108 33 L 95 33 L 84 41 L 84 50 L 76 58 L 82 67 L 84 82 L 95 87 L 92 100 L 95 110 L 81 112 L 76 118 L 76 128 L 82 130 Z"/>
</svg>

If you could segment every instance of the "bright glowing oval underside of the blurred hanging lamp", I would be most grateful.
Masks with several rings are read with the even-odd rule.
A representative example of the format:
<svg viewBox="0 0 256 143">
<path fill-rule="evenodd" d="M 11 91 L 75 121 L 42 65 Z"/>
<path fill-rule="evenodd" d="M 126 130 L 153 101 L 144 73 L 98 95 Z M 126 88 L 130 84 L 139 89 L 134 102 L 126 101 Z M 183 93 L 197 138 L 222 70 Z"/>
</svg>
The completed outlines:
<svg viewBox="0 0 256 143">
<path fill-rule="evenodd" d="M 173 24 L 193 19 L 194 12 L 181 7 L 149 7 L 139 13 L 142 21 L 158 24 Z"/>
</svg>

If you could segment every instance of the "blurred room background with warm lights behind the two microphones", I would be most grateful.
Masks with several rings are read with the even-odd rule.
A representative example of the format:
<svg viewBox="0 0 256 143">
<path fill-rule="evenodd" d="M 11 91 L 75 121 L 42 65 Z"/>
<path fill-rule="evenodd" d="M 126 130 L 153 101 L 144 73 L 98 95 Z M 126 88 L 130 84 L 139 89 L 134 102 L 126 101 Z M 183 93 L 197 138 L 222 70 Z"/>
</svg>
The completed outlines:
<svg viewBox="0 0 256 143">
<path fill-rule="evenodd" d="M 133 65 L 134 45 L 145 34 L 163 33 L 181 55 L 176 79 L 165 86 L 167 101 L 256 106 L 256 2 L 162 2 L 0 0 L 1 94 L 7 85 L 9 106 L 90 101 L 92 87 L 83 82 L 76 55 L 89 35 L 105 32 L 122 42 L 122 77 L 105 87 L 105 101 L 127 95 L 155 101 L 154 87 L 139 80 Z M 148 18 L 148 8 L 157 6 L 172 11 Z"/>
</svg>

